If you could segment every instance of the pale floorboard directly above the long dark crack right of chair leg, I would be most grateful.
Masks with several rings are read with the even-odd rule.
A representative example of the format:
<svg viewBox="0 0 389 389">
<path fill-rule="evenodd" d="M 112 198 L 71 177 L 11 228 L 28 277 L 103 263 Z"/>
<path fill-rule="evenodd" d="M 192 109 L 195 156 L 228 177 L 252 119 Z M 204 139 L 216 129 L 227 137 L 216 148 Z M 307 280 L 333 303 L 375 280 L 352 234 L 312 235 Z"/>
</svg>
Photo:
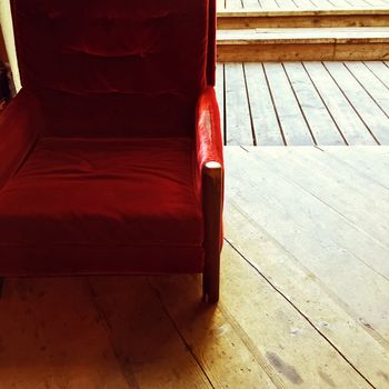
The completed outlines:
<svg viewBox="0 0 389 389">
<path fill-rule="evenodd" d="M 305 312 L 317 330 L 347 356 L 372 385 L 386 388 L 385 376 L 379 372 L 387 371 L 387 349 L 366 331 L 363 323 L 347 311 L 347 307 L 319 278 L 248 217 L 245 209 L 229 201 L 227 220 L 226 236 L 233 247 Z M 345 337 L 350 332 L 353 335 L 352 342 Z"/>
</svg>

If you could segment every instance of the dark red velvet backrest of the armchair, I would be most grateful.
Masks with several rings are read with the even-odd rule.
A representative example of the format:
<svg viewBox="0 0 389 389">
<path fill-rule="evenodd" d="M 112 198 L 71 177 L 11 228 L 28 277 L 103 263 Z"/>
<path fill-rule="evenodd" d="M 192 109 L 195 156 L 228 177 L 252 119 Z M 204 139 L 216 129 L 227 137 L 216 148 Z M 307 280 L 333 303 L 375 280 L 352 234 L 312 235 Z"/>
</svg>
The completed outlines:
<svg viewBox="0 0 389 389">
<path fill-rule="evenodd" d="M 191 136 L 215 0 L 11 0 L 22 87 L 60 137 Z"/>
</svg>

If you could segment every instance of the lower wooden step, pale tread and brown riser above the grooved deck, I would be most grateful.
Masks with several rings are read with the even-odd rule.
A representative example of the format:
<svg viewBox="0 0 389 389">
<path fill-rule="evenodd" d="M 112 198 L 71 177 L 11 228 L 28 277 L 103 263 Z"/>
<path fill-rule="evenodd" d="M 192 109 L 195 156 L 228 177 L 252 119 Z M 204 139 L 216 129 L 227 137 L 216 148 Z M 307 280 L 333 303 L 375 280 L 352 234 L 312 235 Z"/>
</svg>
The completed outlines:
<svg viewBox="0 0 389 389">
<path fill-rule="evenodd" d="M 219 30 L 217 44 L 221 62 L 388 60 L 389 28 Z"/>
</svg>

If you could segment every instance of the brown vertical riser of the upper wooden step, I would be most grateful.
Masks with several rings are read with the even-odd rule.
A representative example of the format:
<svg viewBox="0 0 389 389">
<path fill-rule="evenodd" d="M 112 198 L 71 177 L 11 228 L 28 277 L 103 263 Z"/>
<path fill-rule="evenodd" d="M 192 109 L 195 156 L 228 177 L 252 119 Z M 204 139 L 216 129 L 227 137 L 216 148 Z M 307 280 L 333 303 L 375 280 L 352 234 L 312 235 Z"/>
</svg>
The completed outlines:
<svg viewBox="0 0 389 389">
<path fill-rule="evenodd" d="M 389 14 L 337 16 L 275 16 L 228 17 L 218 16 L 219 30 L 245 28 L 319 28 L 319 27 L 389 27 Z"/>
</svg>

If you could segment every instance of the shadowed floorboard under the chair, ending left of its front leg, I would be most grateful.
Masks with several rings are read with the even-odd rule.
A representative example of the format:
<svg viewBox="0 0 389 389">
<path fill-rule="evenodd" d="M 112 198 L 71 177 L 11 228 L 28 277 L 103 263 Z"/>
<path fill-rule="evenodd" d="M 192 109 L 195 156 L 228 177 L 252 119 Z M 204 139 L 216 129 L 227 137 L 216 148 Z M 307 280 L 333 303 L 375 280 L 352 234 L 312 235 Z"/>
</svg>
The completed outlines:
<svg viewBox="0 0 389 389">
<path fill-rule="evenodd" d="M 140 388 L 211 388 L 144 277 L 91 277 L 118 362 Z"/>
</svg>

